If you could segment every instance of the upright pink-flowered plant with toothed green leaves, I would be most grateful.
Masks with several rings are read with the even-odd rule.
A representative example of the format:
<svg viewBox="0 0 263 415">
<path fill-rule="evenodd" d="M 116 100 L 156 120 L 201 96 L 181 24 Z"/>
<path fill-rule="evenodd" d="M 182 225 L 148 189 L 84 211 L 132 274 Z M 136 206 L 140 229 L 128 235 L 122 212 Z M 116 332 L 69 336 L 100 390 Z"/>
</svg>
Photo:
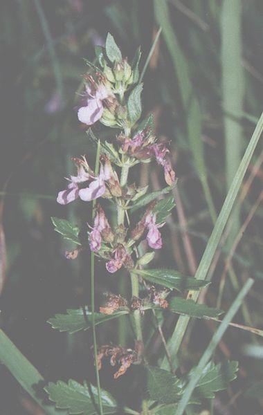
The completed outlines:
<svg viewBox="0 0 263 415">
<path fill-rule="evenodd" d="M 161 228 L 174 208 L 172 194 L 163 198 L 176 185 L 169 158 L 170 150 L 167 143 L 156 138 L 153 116 L 148 115 L 140 120 L 140 95 L 143 90 L 138 71 L 140 49 L 137 50 L 132 64 L 129 64 L 123 58 L 114 38 L 108 34 L 105 48 L 96 47 L 96 57 L 98 66 L 88 62 L 90 71 L 84 76 L 85 91 L 78 109 L 78 119 L 87 126 L 101 122 L 109 128 L 118 129 L 118 134 L 114 142 L 100 142 L 93 131 L 88 130 L 97 146 L 96 163 L 91 167 L 89 154 L 82 158 L 73 158 L 77 175 L 67 179 L 69 184 L 66 190 L 58 193 L 57 202 L 66 205 L 78 197 L 84 202 L 92 201 L 93 221 L 87 225 L 91 264 L 94 266 L 94 257 L 97 257 L 105 261 L 108 273 L 115 274 L 123 269 L 123 273 L 116 274 L 116 278 L 127 278 L 130 275 L 131 297 L 123 298 L 119 293 L 107 293 L 107 301 L 100 305 L 99 313 L 95 312 L 92 297 L 91 310 L 85 306 L 78 310 L 69 310 L 66 315 L 55 315 L 48 320 L 53 328 L 69 333 L 92 329 L 97 387 L 88 388 L 87 385 L 70 380 L 68 384 L 50 382 L 46 391 L 57 407 L 68 409 L 70 414 L 96 414 L 97 409 L 100 414 L 116 413 L 118 403 L 100 389 L 98 376 L 102 360 L 109 358 L 112 366 L 118 365 L 114 373 L 115 379 L 123 376 L 131 365 L 142 365 L 146 371 L 140 407 L 123 407 L 121 413 L 139 414 L 137 411 L 143 410 L 143 414 L 174 414 L 191 373 L 181 378 L 171 373 L 174 362 L 170 359 L 156 315 L 161 316 L 160 313 L 167 310 L 169 313 L 209 318 L 217 317 L 222 311 L 174 295 L 174 291 L 199 291 L 207 282 L 185 277 L 176 270 L 148 268 L 149 263 L 154 260 L 156 250 L 163 248 Z M 151 160 L 161 165 L 166 182 L 165 187 L 156 192 L 149 192 L 148 187 L 129 183 L 130 170 L 139 163 L 150 163 Z M 109 204 L 116 208 L 116 217 L 110 217 L 107 213 Z M 79 228 L 64 219 L 52 220 L 57 232 L 78 245 L 73 252 L 66 252 L 67 258 L 75 259 L 80 250 L 86 249 L 79 238 Z M 148 339 L 143 334 L 142 322 L 148 311 L 156 318 L 156 328 L 161 333 L 167 355 L 159 367 L 149 365 L 145 352 L 145 340 Z M 132 348 L 127 348 L 124 344 L 102 344 L 98 347 L 95 326 L 122 315 L 131 319 L 134 329 Z M 169 366 L 170 371 L 167 370 Z M 236 362 L 228 362 L 223 376 L 221 365 L 210 362 L 190 403 L 199 405 L 201 398 L 210 398 L 215 391 L 224 389 L 227 382 L 235 378 L 236 370 Z M 213 382 L 215 377 L 217 381 Z M 202 387 L 203 380 L 206 380 L 206 387 Z"/>
</svg>

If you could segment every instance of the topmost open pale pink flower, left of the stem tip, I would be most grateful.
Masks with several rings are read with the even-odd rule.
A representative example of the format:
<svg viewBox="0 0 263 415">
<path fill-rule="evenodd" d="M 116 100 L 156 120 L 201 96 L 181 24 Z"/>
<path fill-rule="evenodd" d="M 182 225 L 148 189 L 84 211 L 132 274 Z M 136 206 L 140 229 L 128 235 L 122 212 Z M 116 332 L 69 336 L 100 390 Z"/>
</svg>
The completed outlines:
<svg viewBox="0 0 263 415">
<path fill-rule="evenodd" d="M 84 106 L 78 110 L 78 119 L 84 124 L 91 125 L 102 117 L 103 100 L 111 97 L 112 93 L 107 89 L 103 80 L 97 84 L 90 75 L 87 76 L 87 80 L 89 84 L 86 86 Z"/>
</svg>

